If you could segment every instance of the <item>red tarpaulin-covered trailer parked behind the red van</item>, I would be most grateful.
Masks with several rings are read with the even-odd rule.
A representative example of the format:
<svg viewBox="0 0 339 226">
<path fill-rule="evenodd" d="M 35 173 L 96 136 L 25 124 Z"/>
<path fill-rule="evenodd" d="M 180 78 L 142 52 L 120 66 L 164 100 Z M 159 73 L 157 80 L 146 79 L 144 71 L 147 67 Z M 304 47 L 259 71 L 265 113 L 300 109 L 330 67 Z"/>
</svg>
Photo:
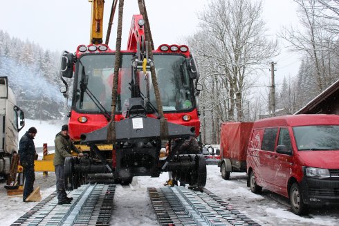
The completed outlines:
<svg viewBox="0 0 339 226">
<path fill-rule="evenodd" d="M 220 138 L 221 176 L 230 179 L 230 172 L 246 172 L 246 150 L 253 122 L 222 122 Z"/>
</svg>

